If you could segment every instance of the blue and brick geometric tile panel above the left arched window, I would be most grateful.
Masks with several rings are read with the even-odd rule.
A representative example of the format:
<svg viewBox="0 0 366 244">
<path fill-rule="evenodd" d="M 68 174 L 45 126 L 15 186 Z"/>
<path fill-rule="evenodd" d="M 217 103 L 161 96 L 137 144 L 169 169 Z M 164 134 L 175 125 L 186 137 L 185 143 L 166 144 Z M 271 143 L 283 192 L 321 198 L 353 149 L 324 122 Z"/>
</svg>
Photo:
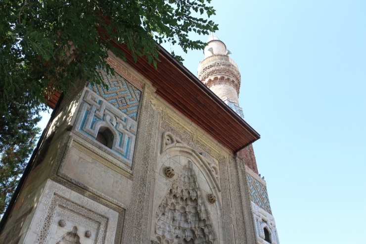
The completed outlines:
<svg viewBox="0 0 366 244">
<path fill-rule="evenodd" d="M 122 78 L 117 72 L 114 72 L 115 75 L 111 75 L 107 74 L 105 70 L 99 70 L 99 73 L 102 76 L 103 82 L 107 84 L 108 89 L 105 89 L 102 84 L 94 86 L 89 84 L 88 87 L 130 118 L 137 120 L 141 91 Z"/>
</svg>

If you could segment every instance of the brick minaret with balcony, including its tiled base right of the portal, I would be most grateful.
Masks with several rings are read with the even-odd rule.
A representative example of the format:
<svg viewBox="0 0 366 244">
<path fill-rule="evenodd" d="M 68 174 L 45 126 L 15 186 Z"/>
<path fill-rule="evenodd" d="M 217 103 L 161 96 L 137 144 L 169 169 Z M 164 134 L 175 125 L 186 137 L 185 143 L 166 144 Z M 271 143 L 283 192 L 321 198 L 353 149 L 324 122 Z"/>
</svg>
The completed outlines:
<svg viewBox="0 0 366 244">
<path fill-rule="evenodd" d="M 211 33 L 204 54 L 205 59 L 198 66 L 198 78 L 240 117 L 244 118 L 243 110 L 238 102 L 241 77 L 238 66 L 229 57 L 231 52 L 226 48 L 225 43 Z M 258 174 L 253 146 L 250 144 L 237 154 L 244 159 L 247 166 L 245 167 L 245 178 L 250 193 L 256 243 L 279 244 L 268 199 L 267 184 L 264 177 L 261 178 L 261 175 Z"/>
</svg>

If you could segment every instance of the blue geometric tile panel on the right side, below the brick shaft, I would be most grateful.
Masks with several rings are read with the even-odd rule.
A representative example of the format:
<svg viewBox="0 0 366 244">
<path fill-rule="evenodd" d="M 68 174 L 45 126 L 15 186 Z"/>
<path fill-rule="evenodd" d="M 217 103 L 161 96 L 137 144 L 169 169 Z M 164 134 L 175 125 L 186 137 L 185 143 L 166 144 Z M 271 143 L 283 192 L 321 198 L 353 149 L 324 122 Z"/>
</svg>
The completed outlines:
<svg viewBox="0 0 366 244">
<path fill-rule="evenodd" d="M 248 182 L 250 200 L 272 214 L 267 188 L 249 174 L 246 175 L 246 179 Z"/>
</svg>

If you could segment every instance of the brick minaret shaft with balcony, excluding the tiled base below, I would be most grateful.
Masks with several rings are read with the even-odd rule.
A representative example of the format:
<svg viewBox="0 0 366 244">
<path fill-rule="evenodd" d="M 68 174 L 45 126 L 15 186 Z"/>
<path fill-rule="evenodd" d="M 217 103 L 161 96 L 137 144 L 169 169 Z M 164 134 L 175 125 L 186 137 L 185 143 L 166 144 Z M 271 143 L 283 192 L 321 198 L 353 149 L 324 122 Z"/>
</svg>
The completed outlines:
<svg viewBox="0 0 366 244">
<path fill-rule="evenodd" d="M 241 76 L 237 64 L 229 57 L 231 52 L 211 33 L 203 53 L 205 59 L 198 66 L 198 79 L 229 106 L 241 110 L 238 101 Z M 238 154 L 258 174 L 253 146 L 246 146 Z"/>
</svg>

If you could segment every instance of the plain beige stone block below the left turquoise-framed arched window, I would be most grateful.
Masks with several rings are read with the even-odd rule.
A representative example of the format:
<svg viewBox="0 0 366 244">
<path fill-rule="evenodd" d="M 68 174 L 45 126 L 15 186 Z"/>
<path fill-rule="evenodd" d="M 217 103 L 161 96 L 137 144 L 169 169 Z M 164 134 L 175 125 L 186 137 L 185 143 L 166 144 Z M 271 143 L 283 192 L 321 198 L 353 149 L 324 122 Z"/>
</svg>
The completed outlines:
<svg viewBox="0 0 366 244">
<path fill-rule="evenodd" d="M 132 171 L 72 132 L 65 141 L 65 153 L 61 162 L 56 161 L 52 179 L 62 178 L 126 209 L 133 184 Z"/>
</svg>

